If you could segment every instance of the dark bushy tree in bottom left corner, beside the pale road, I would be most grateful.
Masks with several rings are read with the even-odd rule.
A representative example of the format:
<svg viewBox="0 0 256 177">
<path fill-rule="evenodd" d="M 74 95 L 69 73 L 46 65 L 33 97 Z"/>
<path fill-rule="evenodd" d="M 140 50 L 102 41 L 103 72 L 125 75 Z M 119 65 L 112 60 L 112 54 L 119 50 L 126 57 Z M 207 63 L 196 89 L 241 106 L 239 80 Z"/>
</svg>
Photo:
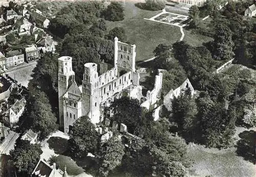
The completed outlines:
<svg viewBox="0 0 256 177">
<path fill-rule="evenodd" d="M 20 140 L 15 143 L 14 150 L 10 151 L 10 159 L 20 176 L 28 176 L 33 172 L 41 153 L 39 144 L 30 144 L 27 140 Z"/>
</svg>

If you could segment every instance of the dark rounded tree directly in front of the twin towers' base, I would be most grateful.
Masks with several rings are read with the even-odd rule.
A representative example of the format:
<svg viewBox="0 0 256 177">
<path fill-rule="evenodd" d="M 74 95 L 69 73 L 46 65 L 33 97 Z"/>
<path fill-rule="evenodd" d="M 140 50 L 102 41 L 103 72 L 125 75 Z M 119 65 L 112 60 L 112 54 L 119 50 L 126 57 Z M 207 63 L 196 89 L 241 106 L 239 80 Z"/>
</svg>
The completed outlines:
<svg viewBox="0 0 256 177">
<path fill-rule="evenodd" d="M 89 117 L 82 116 L 77 119 L 69 132 L 69 136 L 70 149 L 76 157 L 84 157 L 87 156 L 88 152 L 95 152 L 99 134 Z"/>
</svg>

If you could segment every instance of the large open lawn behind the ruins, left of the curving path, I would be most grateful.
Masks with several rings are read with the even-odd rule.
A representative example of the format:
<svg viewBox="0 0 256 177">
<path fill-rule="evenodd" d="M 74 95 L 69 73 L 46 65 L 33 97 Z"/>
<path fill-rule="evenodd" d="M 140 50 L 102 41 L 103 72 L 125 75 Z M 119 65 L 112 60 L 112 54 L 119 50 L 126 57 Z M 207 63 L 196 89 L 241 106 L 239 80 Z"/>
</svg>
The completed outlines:
<svg viewBox="0 0 256 177">
<path fill-rule="evenodd" d="M 108 29 L 122 27 L 127 39 L 136 45 L 136 61 L 154 57 L 153 50 L 160 43 L 172 44 L 180 39 L 180 29 L 175 26 L 148 21 L 161 11 L 141 10 L 133 3 L 123 3 L 125 19 L 122 21 L 107 21 Z"/>
</svg>

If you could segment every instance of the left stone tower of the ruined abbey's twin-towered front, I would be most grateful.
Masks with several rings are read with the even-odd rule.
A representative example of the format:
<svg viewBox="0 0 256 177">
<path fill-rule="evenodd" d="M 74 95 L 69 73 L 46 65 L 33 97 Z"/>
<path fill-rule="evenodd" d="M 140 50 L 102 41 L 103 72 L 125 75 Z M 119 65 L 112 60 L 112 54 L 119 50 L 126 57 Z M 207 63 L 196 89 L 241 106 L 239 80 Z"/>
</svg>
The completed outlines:
<svg viewBox="0 0 256 177">
<path fill-rule="evenodd" d="M 72 57 L 58 58 L 58 98 L 59 98 L 59 125 L 63 128 L 63 95 L 67 92 L 71 82 L 75 79 L 72 70 Z"/>
</svg>

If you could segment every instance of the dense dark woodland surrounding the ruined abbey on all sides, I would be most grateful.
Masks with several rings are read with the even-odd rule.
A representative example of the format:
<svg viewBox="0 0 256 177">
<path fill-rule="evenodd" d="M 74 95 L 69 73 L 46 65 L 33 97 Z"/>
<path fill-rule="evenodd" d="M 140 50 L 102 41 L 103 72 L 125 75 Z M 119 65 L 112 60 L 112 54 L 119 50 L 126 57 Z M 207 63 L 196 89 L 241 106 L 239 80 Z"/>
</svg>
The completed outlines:
<svg viewBox="0 0 256 177">
<path fill-rule="evenodd" d="M 256 25 L 241 17 L 246 5 L 231 2 L 216 12 L 217 5 L 210 2 L 207 1 L 204 8 L 211 9 L 210 33 L 214 40 L 200 47 L 189 46 L 183 41 L 173 45 L 161 44 L 153 51 L 156 59 L 150 66 L 153 74 L 157 69 L 166 70 L 163 72 L 162 98 L 186 78 L 200 91 L 197 97 L 191 97 L 187 90 L 173 100 L 173 112 L 163 111 L 159 121 L 154 121 L 152 112 L 142 108 L 136 99 L 123 97 L 115 100 L 111 105 L 115 113 L 112 121 L 126 124 L 127 130 L 138 137 L 129 138 L 129 147 L 124 147 L 118 132 L 101 143 L 95 125 L 88 117 L 75 122 L 69 133 L 70 151 L 75 158 L 87 156 L 89 152 L 95 154 L 98 176 L 120 172 L 126 176 L 184 176 L 193 164 L 187 158 L 186 143 L 226 148 L 233 145 L 235 126 L 255 126 L 256 121 L 244 111 L 245 106 L 250 106 L 255 100 L 248 96 L 255 93 L 256 84 L 251 80 L 250 72 L 238 72 L 236 78 L 215 71 L 222 61 L 233 57 L 237 63 L 255 67 L 253 36 Z M 203 9 L 191 7 L 191 30 L 202 30 L 199 20 L 202 12 Z M 49 29 L 61 39 L 58 54 L 46 54 L 37 63 L 29 84 L 31 95 L 27 112 L 22 119 L 25 120 L 22 121 L 24 129 L 33 128 L 39 132 L 40 139 L 45 139 L 58 128 L 57 58 L 63 55 L 73 57 L 73 70 L 80 84 L 84 63 L 111 63 L 113 37 L 126 41 L 122 28 L 108 31 L 105 26 L 105 20 L 123 18 L 123 8 L 119 3 L 107 7 L 99 2 L 73 3 L 58 12 Z M 179 136 L 174 136 L 176 132 Z M 22 151 L 24 153 L 20 153 Z M 34 145 L 17 144 L 11 157 L 19 172 L 24 174 L 31 171 L 37 160 L 33 158 L 40 153 Z M 29 158 L 23 158 L 24 154 Z M 23 162 L 19 158 L 23 158 Z"/>
</svg>

